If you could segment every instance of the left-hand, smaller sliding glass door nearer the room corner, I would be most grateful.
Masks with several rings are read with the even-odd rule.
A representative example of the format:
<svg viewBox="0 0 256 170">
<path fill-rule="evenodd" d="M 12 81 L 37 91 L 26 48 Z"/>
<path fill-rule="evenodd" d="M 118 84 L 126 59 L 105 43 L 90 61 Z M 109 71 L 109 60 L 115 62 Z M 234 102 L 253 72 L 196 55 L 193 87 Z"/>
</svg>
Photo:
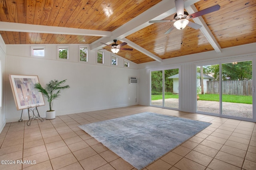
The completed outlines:
<svg viewBox="0 0 256 170">
<path fill-rule="evenodd" d="M 179 108 L 179 68 L 151 71 L 151 106 Z"/>
</svg>

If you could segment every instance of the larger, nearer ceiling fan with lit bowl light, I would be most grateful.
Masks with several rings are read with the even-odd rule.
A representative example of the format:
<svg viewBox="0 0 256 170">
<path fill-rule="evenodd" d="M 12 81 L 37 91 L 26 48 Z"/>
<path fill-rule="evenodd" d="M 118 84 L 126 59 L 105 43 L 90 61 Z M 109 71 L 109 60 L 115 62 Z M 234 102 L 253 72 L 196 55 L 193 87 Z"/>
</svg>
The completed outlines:
<svg viewBox="0 0 256 170">
<path fill-rule="evenodd" d="M 174 20 L 154 20 L 154 21 L 149 21 L 149 23 L 158 23 L 158 22 L 174 22 L 173 26 L 170 27 L 164 34 L 170 33 L 174 27 L 177 29 L 184 29 L 186 25 L 189 27 L 192 27 L 194 29 L 199 29 L 202 27 L 202 25 L 199 25 L 197 23 L 188 21 L 192 18 L 196 18 L 199 16 L 202 16 L 204 14 L 209 14 L 211 12 L 217 11 L 220 9 L 219 5 L 214 5 L 212 7 L 206 8 L 204 10 L 195 12 L 194 14 L 188 15 L 188 12 L 184 12 L 184 0 L 175 0 L 175 6 L 176 6 L 176 12 L 174 16 Z"/>
</svg>

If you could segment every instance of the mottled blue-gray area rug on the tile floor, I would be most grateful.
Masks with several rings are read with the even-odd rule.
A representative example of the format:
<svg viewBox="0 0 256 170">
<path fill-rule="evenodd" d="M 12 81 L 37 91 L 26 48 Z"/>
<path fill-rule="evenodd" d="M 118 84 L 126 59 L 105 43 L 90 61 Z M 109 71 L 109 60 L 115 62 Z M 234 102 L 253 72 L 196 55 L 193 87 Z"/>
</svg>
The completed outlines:
<svg viewBox="0 0 256 170">
<path fill-rule="evenodd" d="M 78 127 L 140 170 L 210 124 L 144 112 Z"/>
</svg>

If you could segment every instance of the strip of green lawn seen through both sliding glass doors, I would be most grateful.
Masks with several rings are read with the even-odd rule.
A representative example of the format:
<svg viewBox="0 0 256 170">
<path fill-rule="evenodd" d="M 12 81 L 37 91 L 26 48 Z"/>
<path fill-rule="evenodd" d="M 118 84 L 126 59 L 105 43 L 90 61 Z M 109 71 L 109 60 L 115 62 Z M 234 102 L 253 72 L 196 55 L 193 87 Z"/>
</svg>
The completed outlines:
<svg viewBox="0 0 256 170">
<path fill-rule="evenodd" d="M 199 94 L 199 100 L 208 100 L 208 101 L 220 101 L 218 94 Z M 176 98 L 178 99 L 178 94 L 166 94 L 165 99 Z M 162 95 L 152 95 L 151 100 L 162 99 Z M 237 95 L 222 95 L 222 102 L 231 102 L 231 103 L 242 103 L 242 104 L 252 104 L 252 96 L 237 96 Z"/>
</svg>

